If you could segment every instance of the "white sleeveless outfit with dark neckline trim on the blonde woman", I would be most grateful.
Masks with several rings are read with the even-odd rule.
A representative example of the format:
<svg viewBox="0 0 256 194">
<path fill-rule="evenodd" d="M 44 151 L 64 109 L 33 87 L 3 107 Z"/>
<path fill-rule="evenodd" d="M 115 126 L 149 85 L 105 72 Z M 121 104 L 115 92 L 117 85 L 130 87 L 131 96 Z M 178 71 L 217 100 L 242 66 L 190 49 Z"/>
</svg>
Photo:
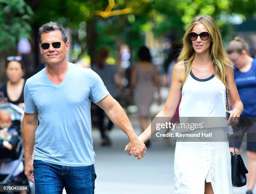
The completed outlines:
<svg viewBox="0 0 256 194">
<path fill-rule="evenodd" d="M 225 85 L 217 76 L 196 78 L 192 73 L 182 87 L 179 116 L 225 117 Z M 204 194 L 205 181 L 214 194 L 233 194 L 231 156 L 225 127 L 214 128 L 226 141 L 177 140 L 174 156 L 174 194 Z"/>
</svg>

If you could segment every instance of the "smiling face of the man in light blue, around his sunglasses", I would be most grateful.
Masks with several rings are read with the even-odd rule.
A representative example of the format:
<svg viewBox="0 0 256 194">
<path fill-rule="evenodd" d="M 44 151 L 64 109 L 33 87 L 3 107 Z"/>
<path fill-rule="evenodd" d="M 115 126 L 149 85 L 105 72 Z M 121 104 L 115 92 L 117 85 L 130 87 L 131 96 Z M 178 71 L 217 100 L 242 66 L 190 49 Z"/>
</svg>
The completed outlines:
<svg viewBox="0 0 256 194">
<path fill-rule="evenodd" d="M 52 43 L 60 42 L 60 48 L 54 48 Z M 50 43 L 48 49 L 43 49 L 43 43 Z M 41 34 L 41 44 L 39 45 L 41 54 L 46 60 L 46 63 L 51 65 L 56 65 L 61 63 L 66 58 L 66 52 L 69 50 L 69 41 L 64 43 L 61 38 L 61 31 L 55 30 L 48 33 Z"/>
</svg>

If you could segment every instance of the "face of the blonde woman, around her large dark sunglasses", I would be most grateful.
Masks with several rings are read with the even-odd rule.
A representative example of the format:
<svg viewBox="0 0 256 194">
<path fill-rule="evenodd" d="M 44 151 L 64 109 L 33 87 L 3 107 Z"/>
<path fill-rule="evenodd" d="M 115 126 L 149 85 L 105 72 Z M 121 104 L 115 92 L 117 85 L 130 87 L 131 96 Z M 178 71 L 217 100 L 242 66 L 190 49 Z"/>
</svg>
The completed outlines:
<svg viewBox="0 0 256 194">
<path fill-rule="evenodd" d="M 205 25 L 203 25 L 202 23 L 197 23 L 192 29 L 192 32 L 200 34 L 201 32 L 209 32 L 209 31 L 207 30 Z M 192 46 L 195 52 L 198 54 L 201 54 L 201 53 L 209 52 L 212 38 L 210 36 L 207 40 L 202 40 L 200 36 L 197 36 L 196 40 L 190 40 L 190 41 L 192 41 Z"/>
</svg>

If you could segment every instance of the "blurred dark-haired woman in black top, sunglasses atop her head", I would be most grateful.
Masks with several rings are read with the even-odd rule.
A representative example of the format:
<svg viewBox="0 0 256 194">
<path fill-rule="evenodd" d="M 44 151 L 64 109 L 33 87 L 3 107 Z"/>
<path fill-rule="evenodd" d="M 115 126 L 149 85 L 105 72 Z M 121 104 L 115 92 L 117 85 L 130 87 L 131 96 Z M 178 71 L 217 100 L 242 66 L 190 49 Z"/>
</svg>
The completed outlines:
<svg viewBox="0 0 256 194">
<path fill-rule="evenodd" d="M 24 86 L 25 79 L 24 66 L 20 56 L 10 56 L 7 58 L 5 66 L 8 81 L 0 87 L 2 103 L 10 102 L 24 108 Z"/>
</svg>

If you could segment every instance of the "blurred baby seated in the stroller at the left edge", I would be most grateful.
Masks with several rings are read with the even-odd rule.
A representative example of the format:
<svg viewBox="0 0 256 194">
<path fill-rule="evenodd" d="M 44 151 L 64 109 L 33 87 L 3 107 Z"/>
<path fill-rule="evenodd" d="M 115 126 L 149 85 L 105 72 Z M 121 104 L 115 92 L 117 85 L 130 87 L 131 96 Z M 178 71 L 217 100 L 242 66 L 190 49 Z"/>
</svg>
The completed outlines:
<svg viewBox="0 0 256 194">
<path fill-rule="evenodd" d="M 7 110 L 0 110 L 0 146 L 12 151 L 18 143 L 18 132 L 12 126 L 10 113 Z"/>
</svg>

